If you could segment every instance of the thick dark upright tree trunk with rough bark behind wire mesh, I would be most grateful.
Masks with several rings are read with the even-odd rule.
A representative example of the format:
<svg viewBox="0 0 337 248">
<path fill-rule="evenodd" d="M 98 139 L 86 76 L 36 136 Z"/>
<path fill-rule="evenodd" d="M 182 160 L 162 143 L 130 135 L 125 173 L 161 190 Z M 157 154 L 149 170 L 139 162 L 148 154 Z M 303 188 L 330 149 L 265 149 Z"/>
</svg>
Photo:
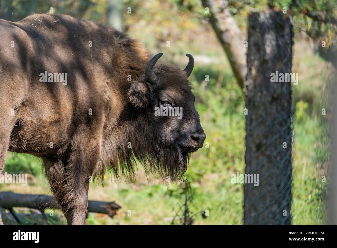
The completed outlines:
<svg viewBox="0 0 337 248">
<path fill-rule="evenodd" d="M 244 185 L 244 224 L 291 224 L 292 83 L 273 82 L 272 73 L 291 73 L 292 48 L 289 18 L 274 10 L 250 15 L 245 174 L 259 175 L 259 185 Z"/>
</svg>

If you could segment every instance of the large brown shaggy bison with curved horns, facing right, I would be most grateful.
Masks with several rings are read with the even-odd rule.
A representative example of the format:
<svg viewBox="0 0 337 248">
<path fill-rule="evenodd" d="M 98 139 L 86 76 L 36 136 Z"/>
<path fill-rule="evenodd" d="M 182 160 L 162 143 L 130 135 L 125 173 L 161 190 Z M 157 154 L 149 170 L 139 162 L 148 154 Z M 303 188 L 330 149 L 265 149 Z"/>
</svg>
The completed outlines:
<svg viewBox="0 0 337 248">
<path fill-rule="evenodd" d="M 68 224 L 85 224 L 92 175 L 132 178 L 139 161 L 177 180 L 203 146 L 191 55 L 184 71 L 156 64 L 162 53 L 65 15 L 0 19 L 0 36 L 0 171 L 7 150 L 41 158 Z"/>
</svg>

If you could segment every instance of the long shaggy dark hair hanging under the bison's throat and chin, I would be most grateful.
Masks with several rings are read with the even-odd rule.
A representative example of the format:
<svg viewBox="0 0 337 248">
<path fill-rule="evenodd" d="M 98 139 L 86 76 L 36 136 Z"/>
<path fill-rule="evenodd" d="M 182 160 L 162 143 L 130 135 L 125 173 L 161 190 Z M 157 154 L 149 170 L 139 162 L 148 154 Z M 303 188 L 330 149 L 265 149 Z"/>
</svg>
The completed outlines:
<svg viewBox="0 0 337 248">
<path fill-rule="evenodd" d="M 109 130 L 104 138 L 94 176 L 102 179 L 108 169 L 117 179 L 134 181 L 139 162 L 146 173 L 179 180 L 186 171 L 188 154 L 176 145 L 165 145 L 145 114 L 131 105 L 126 112 L 128 118 Z"/>
</svg>

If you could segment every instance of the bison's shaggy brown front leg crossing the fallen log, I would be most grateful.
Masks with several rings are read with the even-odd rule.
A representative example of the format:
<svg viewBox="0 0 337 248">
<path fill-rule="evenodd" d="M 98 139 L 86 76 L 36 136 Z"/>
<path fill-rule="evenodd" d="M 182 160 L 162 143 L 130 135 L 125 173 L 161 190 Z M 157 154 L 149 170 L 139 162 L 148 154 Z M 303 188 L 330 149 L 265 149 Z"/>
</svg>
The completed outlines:
<svg viewBox="0 0 337 248">
<path fill-rule="evenodd" d="M 49 165 L 47 176 L 68 225 L 84 225 L 88 208 L 90 176 L 100 156 L 100 141 L 78 139 L 72 143 L 70 155 Z"/>
</svg>

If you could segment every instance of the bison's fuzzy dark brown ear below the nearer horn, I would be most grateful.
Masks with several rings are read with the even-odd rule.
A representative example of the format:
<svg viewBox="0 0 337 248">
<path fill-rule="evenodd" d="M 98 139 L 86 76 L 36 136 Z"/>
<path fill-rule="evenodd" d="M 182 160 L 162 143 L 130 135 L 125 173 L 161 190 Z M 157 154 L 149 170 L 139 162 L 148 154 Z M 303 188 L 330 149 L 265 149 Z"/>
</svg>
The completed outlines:
<svg viewBox="0 0 337 248">
<path fill-rule="evenodd" d="M 130 85 L 127 97 L 134 107 L 144 108 L 149 104 L 150 91 L 145 83 L 134 82 Z"/>
</svg>

